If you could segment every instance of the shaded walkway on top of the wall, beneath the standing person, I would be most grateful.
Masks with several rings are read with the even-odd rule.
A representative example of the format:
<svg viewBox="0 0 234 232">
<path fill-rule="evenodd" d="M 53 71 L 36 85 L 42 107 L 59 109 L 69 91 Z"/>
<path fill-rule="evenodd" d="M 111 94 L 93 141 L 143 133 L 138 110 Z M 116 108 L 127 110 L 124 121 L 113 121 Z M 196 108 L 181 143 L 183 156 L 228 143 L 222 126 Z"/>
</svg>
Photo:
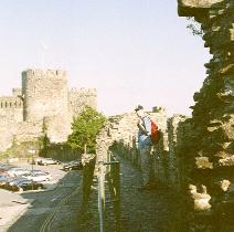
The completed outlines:
<svg viewBox="0 0 234 232">
<path fill-rule="evenodd" d="M 180 200 L 170 189 L 158 188 L 150 191 L 140 191 L 140 171 L 130 162 L 117 157 L 120 161 L 120 191 L 121 191 L 121 230 L 123 232 L 176 232 L 180 213 Z M 106 231 L 115 231 L 114 213 L 108 203 L 108 188 L 106 184 Z M 98 231 L 97 190 L 94 189 L 89 210 L 83 220 L 79 231 Z"/>
</svg>

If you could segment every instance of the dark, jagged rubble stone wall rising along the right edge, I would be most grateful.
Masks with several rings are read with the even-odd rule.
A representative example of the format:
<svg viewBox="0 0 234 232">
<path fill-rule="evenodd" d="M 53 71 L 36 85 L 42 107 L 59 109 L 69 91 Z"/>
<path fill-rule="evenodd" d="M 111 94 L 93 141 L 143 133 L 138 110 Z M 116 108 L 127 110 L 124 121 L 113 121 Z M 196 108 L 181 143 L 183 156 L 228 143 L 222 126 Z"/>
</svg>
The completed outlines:
<svg viewBox="0 0 234 232">
<path fill-rule="evenodd" d="M 179 15 L 194 17 L 201 23 L 205 46 L 213 55 L 205 64 L 208 77 L 193 97 L 193 135 L 184 139 L 184 146 L 193 144 L 183 155 L 188 168 L 184 173 L 196 188 L 208 189 L 212 202 L 203 217 L 191 217 L 191 230 L 234 231 L 234 196 L 231 193 L 234 183 L 234 1 L 178 2 Z M 224 182 L 231 184 L 224 188 Z M 209 223 L 208 214 L 215 221 Z"/>
</svg>

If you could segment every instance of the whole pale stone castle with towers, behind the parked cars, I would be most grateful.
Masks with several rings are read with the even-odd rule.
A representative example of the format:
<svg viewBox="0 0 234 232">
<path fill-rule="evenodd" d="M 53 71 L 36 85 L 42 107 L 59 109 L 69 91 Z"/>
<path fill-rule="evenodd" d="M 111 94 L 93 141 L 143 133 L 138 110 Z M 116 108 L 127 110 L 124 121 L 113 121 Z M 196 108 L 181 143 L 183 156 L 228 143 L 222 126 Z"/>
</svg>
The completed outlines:
<svg viewBox="0 0 234 232">
<path fill-rule="evenodd" d="M 67 139 L 73 116 L 87 105 L 96 109 L 96 89 L 67 88 L 64 71 L 28 70 L 22 72 L 22 88 L 0 97 L 0 150 L 18 141 L 34 140 L 43 124 L 52 143 Z"/>
</svg>

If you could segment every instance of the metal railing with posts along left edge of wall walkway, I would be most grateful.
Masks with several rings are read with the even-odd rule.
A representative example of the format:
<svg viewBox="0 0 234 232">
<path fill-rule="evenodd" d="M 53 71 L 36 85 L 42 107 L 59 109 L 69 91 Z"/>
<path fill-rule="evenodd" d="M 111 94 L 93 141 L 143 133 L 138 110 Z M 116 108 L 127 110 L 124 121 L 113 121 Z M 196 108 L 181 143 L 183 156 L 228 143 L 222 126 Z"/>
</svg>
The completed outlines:
<svg viewBox="0 0 234 232">
<path fill-rule="evenodd" d="M 106 193 L 105 180 L 108 182 L 109 192 L 115 213 L 116 232 L 120 231 L 120 164 L 115 156 L 108 151 L 107 161 L 99 162 L 98 168 L 98 212 L 99 212 L 99 231 L 105 232 L 106 228 Z"/>
</svg>

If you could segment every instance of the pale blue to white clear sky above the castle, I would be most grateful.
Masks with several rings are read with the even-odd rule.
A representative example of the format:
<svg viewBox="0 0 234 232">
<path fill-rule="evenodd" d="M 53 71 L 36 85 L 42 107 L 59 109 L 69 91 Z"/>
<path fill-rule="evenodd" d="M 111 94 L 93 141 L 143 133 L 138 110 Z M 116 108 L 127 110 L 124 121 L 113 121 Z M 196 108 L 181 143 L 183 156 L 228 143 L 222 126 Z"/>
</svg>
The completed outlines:
<svg viewBox="0 0 234 232">
<path fill-rule="evenodd" d="M 210 54 L 177 0 L 1 0 L 0 15 L 0 95 L 24 70 L 65 70 L 70 87 L 97 88 L 106 115 L 191 114 Z"/>
</svg>

